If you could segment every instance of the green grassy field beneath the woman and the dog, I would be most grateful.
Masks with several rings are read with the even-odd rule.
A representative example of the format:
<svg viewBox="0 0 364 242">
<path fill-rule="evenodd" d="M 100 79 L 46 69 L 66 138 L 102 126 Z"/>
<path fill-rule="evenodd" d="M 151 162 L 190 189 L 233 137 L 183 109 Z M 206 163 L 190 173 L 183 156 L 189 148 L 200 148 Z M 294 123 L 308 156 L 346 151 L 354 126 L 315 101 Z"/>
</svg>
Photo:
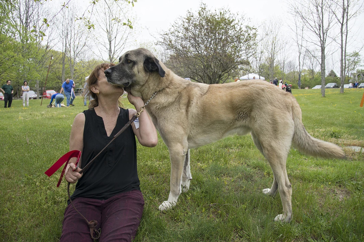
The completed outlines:
<svg viewBox="0 0 364 242">
<path fill-rule="evenodd" d="M 190 190 L 166 212 L 158 206 L 169 194 L 167 147 L 138 144 L 138 170 L 145 210 L 135 241 L 364 241 L 364 155 L 345 148 L 364 147 L 363 89 L 292 90 L 303 122 L 316 138 L 342 146 L 346 160 L 317 159 L 290 150 L 293 221 L 274 222 L 282 212 L 279 195 L 267 197 L 273 174 L 251 137 L 232 136 L 191 150 Z M 0 102 L 0 241 L 58 241 L 67 205 L 60 170 L 44 174 L 68 151 L 71 125 L 84 110 L 46 108 L 44 100 Z M 280 105 L 280 100 L 277 100 Z M 131 107 L 127 99 L 124 106 Z M 274 142 L 274 140 L 272 140 Z M 71 192 L 74 186 L 71 186 Z"/>
</svg>

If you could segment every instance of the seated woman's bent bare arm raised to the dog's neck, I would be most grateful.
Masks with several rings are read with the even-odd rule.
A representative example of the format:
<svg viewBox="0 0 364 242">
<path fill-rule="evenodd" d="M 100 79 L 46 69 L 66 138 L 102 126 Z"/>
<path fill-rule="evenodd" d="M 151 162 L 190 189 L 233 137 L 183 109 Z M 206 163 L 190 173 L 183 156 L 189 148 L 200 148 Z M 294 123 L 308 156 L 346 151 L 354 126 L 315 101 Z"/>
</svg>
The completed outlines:
<svg viewBox="0 0 364 242">
<path fill-rule="evenodd" d="M 140 110 L 141 107 L 144 106 L 144 102 L 141 98 L 135 97 L 131 95 L 130 92 L 128 92 L 128 99 L 131 104 L 134 105 L 134 107 L 137 110 Z M 134 109 L 129 109 L 129 119 L 136 114 L 137 111 Z M 139 143 L 142 146 L 147 147 L 154 147 L 158 143 L 158 135 L 157 130 L 155 130 L 154 124 L 152 120 L 150 119 L 148 113 L 146 111 L 143 111 L 141 115 L 139 115 L 139 128 L 135 127 L 134 122 L 131 124 L 135 136 L 137 136 Z"/>
</svg>

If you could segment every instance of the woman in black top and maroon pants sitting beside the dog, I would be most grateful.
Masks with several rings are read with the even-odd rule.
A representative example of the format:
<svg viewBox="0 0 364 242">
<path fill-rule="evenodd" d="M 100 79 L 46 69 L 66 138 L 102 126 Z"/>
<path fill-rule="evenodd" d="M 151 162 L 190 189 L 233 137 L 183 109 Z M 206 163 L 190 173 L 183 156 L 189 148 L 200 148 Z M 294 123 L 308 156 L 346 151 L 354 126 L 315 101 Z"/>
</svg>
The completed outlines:
<svg viewBox="0 0 364 242">
<path fill-rule="evenodd" d="M 70 183 L 78 181 L 71 199 L 89 221 L 98 221 L 95 229 L 101 228 L 100 241 L 131 241 L 137 233 L 144 207 L 137 174 L 135 136 L 143 146 L 154 147 L 158 142 L 157 131 L 147 112 L 138 117 L 139 127 L 133 122 L 84 174 L 79 173 L 137 112 L 118 105 L 124 90 L 108 83 L 104 74 L 114 65 L 96 66 L 87 80 L 87 95 L 94 100 L 88 110 L 76 116 L 70 135 L 70 150 L 82 151 L 82 163 L 80 159 L 80 168 L 76 168 L 76 158 L 72 158 L 65 177 Z M 143 100 L 131 93 L 128 93 L 128 99 L 137 110 L 144 106 Z M 60 241 L 94 241 L 87 223 L 71 204 L 64 212 Z"/>
</svg>

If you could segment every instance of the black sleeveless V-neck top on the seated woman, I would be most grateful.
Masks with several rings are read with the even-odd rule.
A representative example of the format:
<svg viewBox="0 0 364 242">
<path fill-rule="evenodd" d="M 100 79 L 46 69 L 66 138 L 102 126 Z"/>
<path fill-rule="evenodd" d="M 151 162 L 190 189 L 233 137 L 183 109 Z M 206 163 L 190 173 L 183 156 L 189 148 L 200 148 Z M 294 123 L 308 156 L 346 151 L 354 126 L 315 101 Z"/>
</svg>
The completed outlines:
<svg viewBox="0 0 364 242">
<path fill-rule="evenodd" d="M 85 110 L 83 113 L 86 119 L 81 168 L 86 166 L 129 121 L 129 111 L 120 108 L 116 126 L 108 137 L 103 119 L 96 115 L 94 109 Z M 139 185 L 137 144 L 132 127 L 129 126 L 87 168 L 78 180 L 71 198 L 104 200 L 126 191 L 140 190 Z"/>
</svg>

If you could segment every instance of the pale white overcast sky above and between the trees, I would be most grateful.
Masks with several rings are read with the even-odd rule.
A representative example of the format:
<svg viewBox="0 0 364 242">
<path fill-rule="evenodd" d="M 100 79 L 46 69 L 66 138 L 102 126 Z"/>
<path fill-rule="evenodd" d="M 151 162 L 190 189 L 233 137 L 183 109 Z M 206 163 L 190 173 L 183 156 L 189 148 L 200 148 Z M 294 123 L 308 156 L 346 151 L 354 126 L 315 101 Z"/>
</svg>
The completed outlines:
<svg viewBox="0 0 364 242">
<path fill-rule="evenodd" d="M 54 0 L 52 2 L 55 1 L 61 0 Z M 81 7 L 90 6 L 90 0 L 72 0 L 72 3 L 75 3 L 75 1 L 79 5 L 82 4 Z M 288 28 L 288 23 L 292 22 L 292 16 L 288 12 L 287 2 L 289 1 L 297 0 L 203 0 L 203 3 L 212 10 L 222 7 L 228 8 L 232 13 L 245 17 L 248 24 L 255 27 L 261 25 L 264 20 L 278 19 L 282 23 L 282 38 L 289 39 L 289 35 L 292 35 L 292 31 Z M 362 3 L 364 0 L 359 1 Z M 196 0 L 138 0 L 131 9 L 134 12 L 133 17 L 135 18 L 132 25 L 134 30 L 140 34 L 138 34 L 135 47 L 132 46 L 127 49 L 140 47 L 140 43 L 143 42 L 155 42 L 155 37 L 159 36 L 158 33 L 167 31 L 175 20 L 179 17 L 185 17 L 188 10 L 196 13 L 201 2 Z M 355 40 L 350 40 L 348 52 L 359 51 L 360 47 L 364 44 L 364 13 L 361 13 L 356 18 L 355 23 L 352 22 L 351 24 L 354 27 L 351 29 L 349 36 L 354 36 Z M 333 55 L 327 55 L 327 72 L 331 69 L 339 72 L 339 47 L 335 48 L 337 51 Z M 329 48 L 328 52 L 330 52 Z M 364 57 L 364 49 L 360 53 Z M 297 59 L 295 47 L 292 47 L 290 59 Z"/>
</svg>

